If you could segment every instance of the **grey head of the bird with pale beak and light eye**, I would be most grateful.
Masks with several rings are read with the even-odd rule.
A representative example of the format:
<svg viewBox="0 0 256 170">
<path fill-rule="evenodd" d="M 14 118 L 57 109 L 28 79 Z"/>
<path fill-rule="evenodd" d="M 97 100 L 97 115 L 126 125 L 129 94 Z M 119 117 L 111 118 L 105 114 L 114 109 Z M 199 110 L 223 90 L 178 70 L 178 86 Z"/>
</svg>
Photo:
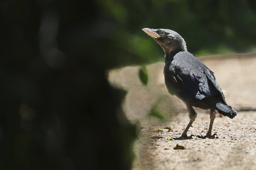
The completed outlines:
<svg viewBox="0 0 256 170">
<path fill-rule="evenodd" d="M 163 48 L 165 54 L 170 54 L 172 51 L 187 51 L 186 42 L 175 31 L 168 29 L 150 29 L 143 28 L 145 33 L 154 38 L 157 43 Z"/>
</svg>

